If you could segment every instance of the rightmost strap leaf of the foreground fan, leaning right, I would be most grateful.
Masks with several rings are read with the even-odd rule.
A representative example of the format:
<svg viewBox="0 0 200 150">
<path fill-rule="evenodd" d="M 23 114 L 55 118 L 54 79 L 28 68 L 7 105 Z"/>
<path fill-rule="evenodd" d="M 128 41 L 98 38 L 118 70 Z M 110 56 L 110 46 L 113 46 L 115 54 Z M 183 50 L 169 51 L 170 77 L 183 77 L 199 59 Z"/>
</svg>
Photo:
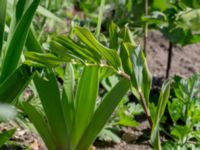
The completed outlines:
<svg viewBox="0 0 200 150">
<path fill-rule="evenodd" d="M 107 93 L 103 98 L 101 104 L 95 111 L 92 120 L 90 121 L 87 129 L 85 130 L 81 140 L 79 141 L 76 149 L 86 150 L 92 142 L 94 142 L 98 133 L 102 130 L 109 117 L 119 104 L 120 100 L 130 88 L 130 81 L 121 79 L 115 87 Z"/>
</svg>

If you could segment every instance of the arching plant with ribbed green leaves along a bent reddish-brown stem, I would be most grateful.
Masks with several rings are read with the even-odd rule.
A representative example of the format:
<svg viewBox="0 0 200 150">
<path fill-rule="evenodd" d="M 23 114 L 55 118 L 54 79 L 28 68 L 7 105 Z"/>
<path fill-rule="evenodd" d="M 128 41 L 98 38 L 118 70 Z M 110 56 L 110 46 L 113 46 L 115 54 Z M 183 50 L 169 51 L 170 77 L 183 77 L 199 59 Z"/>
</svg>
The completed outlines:
<svg viewBox="0 0 200 150">
<path fill-rule="evenodd" d="M 134 45 L 128 28 L 118 32 L 115 25 L 111 27 L 113 29 L 110 29 L 112 31 L 110 33 L 123 39 L 121 43 L 118 43 L 118 38 L 110 36 L 110 46 L 117 48 L 120 46 L 120 54 L 117 54 L 114 49 L 103 46 L 86 28 L 81 27 L 73 29 L 78 37 L 78 42 L 72 40 L 69 36 L 59 36 L 51 41 L 50 49 L 60 58 L 75 59 L 87 66 L 106 67 L 130 80 L 132 92 L 140 100 L 152 128 L 152 144 L 157 149 L 160 149 L 159 123 L 168 101 L 171 81 L 166 81 L 163 85 L 158 105 L 156 106 L 156 115 L 153 118 L 149 104 L 152 79 L 145 56 Z M 116 45 L 111 45 L 113 43 Z M 102 62 L 104 63 L 102 64 Z"/>
</svg>

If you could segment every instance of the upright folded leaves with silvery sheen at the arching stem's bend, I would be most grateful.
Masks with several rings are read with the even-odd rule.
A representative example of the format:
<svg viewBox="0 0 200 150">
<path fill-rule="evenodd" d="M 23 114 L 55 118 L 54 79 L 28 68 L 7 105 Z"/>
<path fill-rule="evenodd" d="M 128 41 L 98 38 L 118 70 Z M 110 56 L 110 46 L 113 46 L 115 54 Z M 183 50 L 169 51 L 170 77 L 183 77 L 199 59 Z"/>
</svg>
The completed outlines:
<svg viewBox="0 0 200 150">
<path fill-rule="evenodd" d="M 133 88 L 137 92 L 143 93 L 148 107 L 152 76 L 142 50 L 136 48 L 133 44 L 123 43 L 120 56 L 125 72 L 131 76 Z M 136 96 L 137 92 L 135 93 Z"/>
</svg>

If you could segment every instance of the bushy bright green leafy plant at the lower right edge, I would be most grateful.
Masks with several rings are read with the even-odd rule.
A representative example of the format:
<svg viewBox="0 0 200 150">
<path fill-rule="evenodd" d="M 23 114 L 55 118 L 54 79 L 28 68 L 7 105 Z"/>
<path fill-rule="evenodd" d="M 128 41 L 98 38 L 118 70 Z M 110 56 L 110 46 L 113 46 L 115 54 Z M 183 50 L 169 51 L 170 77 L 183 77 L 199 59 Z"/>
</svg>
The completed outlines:
<svg viewBox="0 0 200 150">
<path fill-rule="evenodd" d="M 168 103 L 168 110 L 173 121 L 170 126 L 171 143 L 179 146 L 188 144 L 198 145 L 199 142 L 199 114 L 200 114 L 200 76 L 194 74 L 188 79 L 175 77 L 172 101 Z"/>
</svg>

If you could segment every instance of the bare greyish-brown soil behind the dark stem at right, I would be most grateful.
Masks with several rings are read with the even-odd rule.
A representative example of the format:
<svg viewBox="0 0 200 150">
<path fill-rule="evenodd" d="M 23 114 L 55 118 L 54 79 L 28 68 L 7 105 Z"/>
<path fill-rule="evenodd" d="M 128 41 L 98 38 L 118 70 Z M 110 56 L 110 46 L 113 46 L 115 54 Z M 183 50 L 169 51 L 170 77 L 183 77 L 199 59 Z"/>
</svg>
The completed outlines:
<svg viewBox="0 0 200 150">
<path fill-rule="evenodd" d="M 147 59 L 154 76 L 165 76 L 168 46 L 168 41 L 159 31 L 150 32 Z M 198 71 L 200 71 L 200 44 L 174 46 L 170 75 L 190 76 Z"/>
</svg>

